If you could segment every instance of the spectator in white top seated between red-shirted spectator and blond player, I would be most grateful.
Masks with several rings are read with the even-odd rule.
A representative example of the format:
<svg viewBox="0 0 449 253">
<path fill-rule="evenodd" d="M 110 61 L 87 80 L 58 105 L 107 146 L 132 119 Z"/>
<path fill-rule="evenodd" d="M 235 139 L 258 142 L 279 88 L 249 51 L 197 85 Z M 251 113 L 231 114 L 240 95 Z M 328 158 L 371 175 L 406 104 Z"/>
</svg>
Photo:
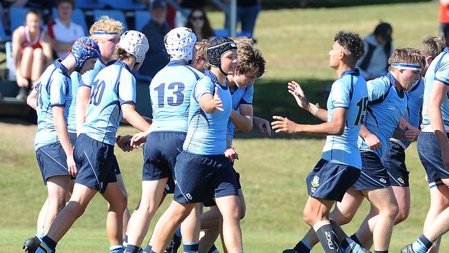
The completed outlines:
<svg viewBox="0 0 449 253">
<path fill-rule="evenodd" d="M 57 53 L 57 57 L 64 59 L 68 48 L 79 37 L 84 36 L 84 29 L 70 19 L 70 15 L 75 10 L 74 0 L 57 0 L 56 8 L 59 17 L 48 24 L 46 36 L 48 36 L 52 49 Z"/>
</svg>

